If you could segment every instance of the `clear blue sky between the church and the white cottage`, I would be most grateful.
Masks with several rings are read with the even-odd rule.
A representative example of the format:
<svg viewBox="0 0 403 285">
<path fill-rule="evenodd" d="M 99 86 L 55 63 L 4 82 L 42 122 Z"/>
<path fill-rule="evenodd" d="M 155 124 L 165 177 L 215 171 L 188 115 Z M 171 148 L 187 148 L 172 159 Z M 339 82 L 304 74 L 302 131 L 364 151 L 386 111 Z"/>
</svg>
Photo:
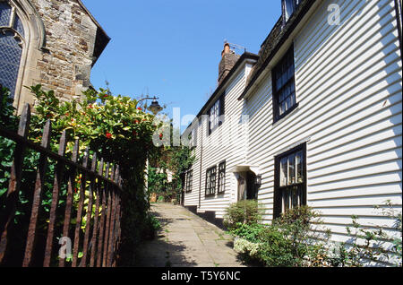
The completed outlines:
<svg viewBox="0 0 403 285">
<path fill-rule="evenodd" d="M 217 87 L 227 39 L 258 53 L 281 13 L 280 0 L 83 0 L 111 41 L 91 82 L 114 94 L 159 96 L 160 104 L 197 115 Z M 241 54 L 242 51 L 236 51 Z"/>
</svg>

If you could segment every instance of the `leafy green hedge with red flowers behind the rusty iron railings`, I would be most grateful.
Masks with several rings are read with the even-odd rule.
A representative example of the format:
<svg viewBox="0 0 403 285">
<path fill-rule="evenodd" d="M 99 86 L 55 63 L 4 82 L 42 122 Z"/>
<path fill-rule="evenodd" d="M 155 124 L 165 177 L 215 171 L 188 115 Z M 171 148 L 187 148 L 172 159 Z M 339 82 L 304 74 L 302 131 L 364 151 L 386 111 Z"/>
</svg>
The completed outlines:
<svg viewBox="0 0 403 285">
<path fill-rule="evenodd" d="M 154 146 L 152 136 L 158 129 L 159 124 L 154 123 L 154 116 L 145 113 L 137 107 L 138 101 L 123 96 L 113 96 L 108 90 L 99 91 L 88 90 L 83 94 L 83 99 L 73 99 L 62 101 L 56 98 L 54 91 L 43 91 L 40 85 L 30 87 L 34 93 L 36 103 L 33 109 L 30 123 L 29 139 L 32 142 L 40 142 L 42 130 L 50 120 L 52 125 L 51 150 L 57 151 L 58 142 L 63 131 L 68 137 L 67 156 L 73 151 L 73 139 L 80 142 L 80 157 L 83 156 L 85 148 L 90 152 L 97 152 L 99 159 L 118 164 L 123 177 L 124 192 L 122 196 L 122 238 L 123 246 L 122 258 L 133 260 L 133 249 L 141 239 L 141 229 L 145 229 L 147 224 L 147 211 L 150 203 L 144 199 L 144 170 L 148 157 L 158 157 L 159 148 Z M 14 117 L 14 110 L 11 100 L 2 100 L 2 125 L 10 122 L 7 127 L 16 129 L 18 117 Z M 4 108 L 6 106 L 7 108 Z M 2 168 L 4 175 L 0 177 L 0 198 L 4 198 L 6 183 L 8 181 L 8 169 L 13 161 L 13 148 L 4 138 L 0 139 L 0 154 L 2 154 Z M 38 163 L 38 153 L 34 151 L 26 152 L 24 161 L 23 177 L 27 183 L 34 183 L 36 167 Z M 47 181 L 43 193 L 41 212 L 48 212 L 51 202 L 51 189 L 53 185 L 55 162 L 48 161 Z M 88 183 L 88 181 L 81 181 Z M 79 186 L 77 186 L 79 187 Z M 23 186 L 21 189 L 32 189 L 32 186 Z M 65 189 L 62 189 L 60 204 L 65 201 Z M 17 209 L 16 222 L 26 225 L 29 217 L 30 203 L 28 198 L 21 191 L 20 203 L 25 208 Z M 74 206 L 78 202 L 78 195 L 74 194 Z M 85 206 L 86 207 L 86 206 Z M 86 211 L 86 210 L 85 210 Z M 92 209 L 93 212 L 93 209 Z M 25 220 L 18 220 L 18 216 L 24 216 Z M 44 215 L 46 217 L 46 215 Z M 43 228 L 47 228 L 47 218 L 40 221 Z M 85 218 L 81 224 L 81 229 L 85 227 Z M 72 220 L 75 223 L 75 220 Z M 22 228 L 27 228 L 22 226 Z M 22 235 L 20 235 L 22 237 Z M 21 242 L 23 245 L 23 242 Z"/>
</svg>

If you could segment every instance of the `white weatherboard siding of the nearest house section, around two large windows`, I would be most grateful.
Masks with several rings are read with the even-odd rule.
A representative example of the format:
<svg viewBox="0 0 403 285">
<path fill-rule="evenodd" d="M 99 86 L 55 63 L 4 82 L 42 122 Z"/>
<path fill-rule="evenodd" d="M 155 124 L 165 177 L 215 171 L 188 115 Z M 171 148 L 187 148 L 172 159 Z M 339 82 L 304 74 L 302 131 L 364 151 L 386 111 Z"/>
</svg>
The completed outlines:
<svg viewBox="0 0 403 285">
<path fill-rule="evenodd" d="M 329 4 L 339 4 L 339 26 L 327 22 Z M 364 226 L 391 228 L 373 207 L 390 200 L 401 211 L 402 204 L 402 66 L 394 2 L 323 1 L 296 35 L 294 52 L 298 108 L 273 125 L 269 69 L 244 103 L 247 162 L 261 168 L 264 220 L 273 213 L 274 156 L 306 142 L 307 203 L 322 212 L 333 239 L 347 238 L 353 214 Z"/>
</svg>

